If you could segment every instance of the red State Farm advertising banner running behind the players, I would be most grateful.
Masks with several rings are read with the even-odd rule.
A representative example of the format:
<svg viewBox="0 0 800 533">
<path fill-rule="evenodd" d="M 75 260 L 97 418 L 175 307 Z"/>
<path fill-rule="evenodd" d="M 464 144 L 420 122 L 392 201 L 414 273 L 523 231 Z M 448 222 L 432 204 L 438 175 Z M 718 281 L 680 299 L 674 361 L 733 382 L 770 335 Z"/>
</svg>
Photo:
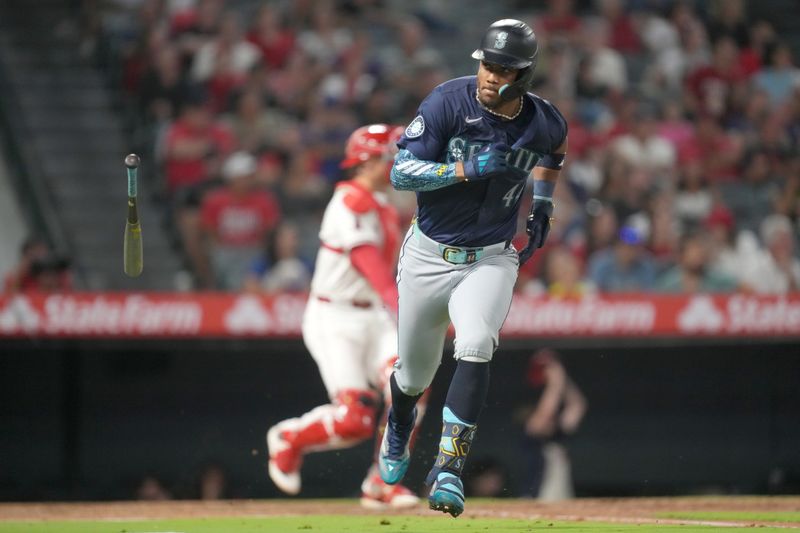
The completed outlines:
<svg viewBox="0 0 800 533">
<path fill-rule="evenodd" d="M 2 338 L 299 338 L 305 295 L 63 293 L 0 296 Z M 503 336 L 798 337 L 789 296 L 514 297 Z"/>
</svg>

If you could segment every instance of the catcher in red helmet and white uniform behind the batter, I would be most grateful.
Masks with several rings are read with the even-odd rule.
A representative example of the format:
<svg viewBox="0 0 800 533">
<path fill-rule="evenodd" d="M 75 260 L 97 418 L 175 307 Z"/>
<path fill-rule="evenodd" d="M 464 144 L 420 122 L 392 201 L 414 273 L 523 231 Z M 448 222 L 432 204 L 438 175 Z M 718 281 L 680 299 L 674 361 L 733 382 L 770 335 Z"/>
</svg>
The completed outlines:
<svg viewBox="0 0 800 533">
<path fill-rule="evenodd" d="M 397 286 L 394 265 L 400 240 L 397 211 L 382 190 L 402 127 L 363 126 L 347 141 L 339 183 L 320 228 L 303 340 L 319 367 L 331 403 L 267 432 L 269 475 L 287 494 L 300 492 L 303 454 L 352 446 L 375 433 L 381 391 L 386 412 L 388 379 L 397 359 Z M 419 410 L 419 405 L 417 406 Z M 421 416 L 417 416 L 417 424 Z M 382 434 L 377 437 L 380 444 Z M 377 459 L 377 457 L 376 457 Z M 365 507 L 412 507 L 406 487 L 388 485 L 373 461 L 361 485 Z"/>
</svg>

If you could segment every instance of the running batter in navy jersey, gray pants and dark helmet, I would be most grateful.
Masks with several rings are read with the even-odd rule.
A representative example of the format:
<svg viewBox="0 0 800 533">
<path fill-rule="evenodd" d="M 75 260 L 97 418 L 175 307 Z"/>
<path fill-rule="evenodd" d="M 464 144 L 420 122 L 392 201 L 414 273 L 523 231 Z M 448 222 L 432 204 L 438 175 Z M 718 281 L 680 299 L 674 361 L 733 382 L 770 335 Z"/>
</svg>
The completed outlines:
<svg viewBox="0 0 800 533">
<path fill-rule="evenodd" d="M 379 469 L 391 484 L 408 468 L 415 404 L 433 380 L 452 321 L 458 363 L 426 480 L 431 509 L 452 516 L 464 510 L 461 473 L 486 400 L 488 363 L 518 268 L 547 238 L 567 149 L 564 118 L 527 92 L 537 48 L 523 22 L 492 24 L 472 54 L 477 76 L 445 82 L 425 98 L 398 142 L 391 172 L 395 188 L 416 191 L 417 218 L 400 252 L 399 361 Z M 531 174 L 529 241 L 518 254 L 510 243 Z"/>
</svg>

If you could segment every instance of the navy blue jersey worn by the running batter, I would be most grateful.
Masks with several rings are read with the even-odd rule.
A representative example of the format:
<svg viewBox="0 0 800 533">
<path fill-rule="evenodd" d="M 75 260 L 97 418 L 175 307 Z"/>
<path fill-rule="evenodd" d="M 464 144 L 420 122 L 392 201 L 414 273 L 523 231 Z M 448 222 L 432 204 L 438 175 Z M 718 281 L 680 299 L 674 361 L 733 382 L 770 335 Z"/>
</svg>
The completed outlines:
<svg viewBox="0 0 800 533">
<path fill-rule="evenodd" d="M 416 158 L 454 163 L 486 145 L 512 147 L 513 171 L 487 180 L 459 182 L 417 192 L 417 223 L 431 239 L 453 246 L 486 246 L 510 240 L 527 178 L 543 155 L 555 153 L 567 136 L 561 113 L 533 94 L 523 96 L 513 120 L 497 117 L 476 98 L 476 77 L 439 85 L 420 104 L 416 118 L 398 141 Z"/>
</svg>

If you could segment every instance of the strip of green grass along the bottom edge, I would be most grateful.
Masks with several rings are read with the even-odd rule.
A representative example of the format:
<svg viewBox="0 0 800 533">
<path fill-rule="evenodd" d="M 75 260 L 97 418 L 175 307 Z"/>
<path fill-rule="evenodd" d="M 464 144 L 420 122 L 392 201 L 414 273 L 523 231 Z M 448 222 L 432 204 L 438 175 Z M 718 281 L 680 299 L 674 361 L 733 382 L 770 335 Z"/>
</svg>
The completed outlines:
<svg viewBox="0 0 800 533">
<path fill-rule="evenodd" d="M 686 513 L 698 517 L 705 513 Z M 727 513 L 718 513 L 727 515 Z M 730 513 L 731 515 L 736 513 Z M 741 513 L 748 514 L 748 513 Z M 776 513 L 781 514 L 781 513 Z M 789 513 L 787 513 L 789 514 Z M 796 515 L 797 513 L 791 513 Z M 753 515 L 755 516 L 755 514 Z M 775 516 L 775 515 L 765 515 Z M 754 518 L 755 519 L 755 518 Z M 453 532 L 516 532 L 540 533 L 592 532 L 627 533 L 680 531 L 709 533 L 720 528 L 701 526 L 656 526 L 652 524 L 599 524 L 589 522 L 551 522 L 549 520 L 509 520 L 448 516 L 339 516 L 313 515 L 304 517 L 269 518 L 205 518 L 193 520 L 63 521 L 63 522 L 0 522 L 0 533 L 453 533 Z M 785 531 L 778 528 L 759 528 L 761 532 Z"/>
</svg>

